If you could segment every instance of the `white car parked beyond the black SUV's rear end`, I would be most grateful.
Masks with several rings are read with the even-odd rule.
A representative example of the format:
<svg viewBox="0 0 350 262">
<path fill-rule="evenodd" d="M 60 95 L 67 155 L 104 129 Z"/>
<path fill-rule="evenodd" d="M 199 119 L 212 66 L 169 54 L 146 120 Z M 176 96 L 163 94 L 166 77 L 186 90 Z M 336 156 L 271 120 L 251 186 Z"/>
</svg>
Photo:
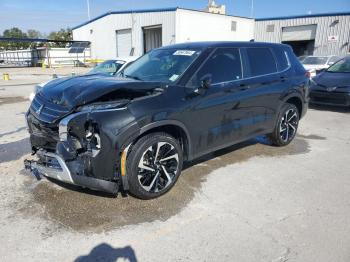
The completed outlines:
<svg viewBox="0 0 350 262">
<path fill-rule="evenodd" d="M 310 73 L 310 77 L 315 77 L 318 71 L 327 69 L 340 59 L 338 56 L 307 56 L 301 63 L 306 71 Z"/>
</svg>

